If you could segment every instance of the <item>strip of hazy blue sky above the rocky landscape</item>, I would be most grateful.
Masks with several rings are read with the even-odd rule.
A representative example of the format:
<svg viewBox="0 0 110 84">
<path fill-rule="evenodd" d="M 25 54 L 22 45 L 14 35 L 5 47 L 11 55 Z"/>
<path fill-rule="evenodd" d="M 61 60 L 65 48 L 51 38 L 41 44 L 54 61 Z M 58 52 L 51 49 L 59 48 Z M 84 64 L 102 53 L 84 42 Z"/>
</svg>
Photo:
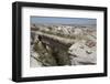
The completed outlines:
<svg viewBox="0 0 110 84">
<path fill-rule="evenodd" d="M 58 18 L 58 17 L 31 17 L 31 23 L 96 24 L 97 19 Z"/>
</svg>

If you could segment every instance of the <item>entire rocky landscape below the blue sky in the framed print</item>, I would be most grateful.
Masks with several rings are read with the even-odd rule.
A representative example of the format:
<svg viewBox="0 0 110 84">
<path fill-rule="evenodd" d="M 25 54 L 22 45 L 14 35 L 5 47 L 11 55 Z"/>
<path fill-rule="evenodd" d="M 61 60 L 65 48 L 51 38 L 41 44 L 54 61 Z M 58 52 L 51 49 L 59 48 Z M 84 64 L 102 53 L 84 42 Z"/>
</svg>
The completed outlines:
<svg viewBox="0 0 110 84">
<path fill-rule="evenodd" d="M 31 67 L 97 64 L 96 40 L 91 28 L 33 25 Z"/>
</svg>

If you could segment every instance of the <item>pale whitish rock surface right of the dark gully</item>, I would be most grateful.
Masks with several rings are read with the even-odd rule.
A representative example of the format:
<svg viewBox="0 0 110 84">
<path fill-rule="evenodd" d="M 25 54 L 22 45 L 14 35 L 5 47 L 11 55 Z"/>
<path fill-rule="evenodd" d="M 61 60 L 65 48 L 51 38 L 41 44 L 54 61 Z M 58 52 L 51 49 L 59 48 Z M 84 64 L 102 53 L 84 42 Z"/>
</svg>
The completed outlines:
<svg viewBox="0 0 110 84">
<path fill-rule="evenodd" d="M 96 46 L 89 48 L 85 43 L 86 41 L 80 41 L 69 48 L 68 53 L 70 54 L 72 64 L 96 64 Z"/>
</svg>

